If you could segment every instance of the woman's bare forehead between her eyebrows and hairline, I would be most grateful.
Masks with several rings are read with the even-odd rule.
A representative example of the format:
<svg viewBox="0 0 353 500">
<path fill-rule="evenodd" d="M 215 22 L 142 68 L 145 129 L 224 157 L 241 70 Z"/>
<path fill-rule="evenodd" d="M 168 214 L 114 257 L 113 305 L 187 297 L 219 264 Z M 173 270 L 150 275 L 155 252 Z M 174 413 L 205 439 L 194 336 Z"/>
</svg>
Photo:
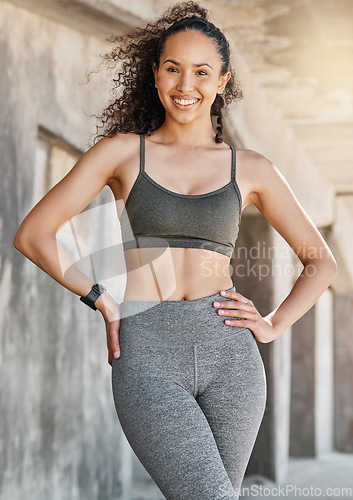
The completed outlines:
<svg viewBox="0 0 353 500">
<path fill-rule="evenodd" d="M 215 40 L 200 31 L 188 29 L 170 35 L 164 44 L 163 56 L 180 54 L 186 59 L 207 58 L 208 60 L 219 60 L 217 43 Z"/>
</svg>

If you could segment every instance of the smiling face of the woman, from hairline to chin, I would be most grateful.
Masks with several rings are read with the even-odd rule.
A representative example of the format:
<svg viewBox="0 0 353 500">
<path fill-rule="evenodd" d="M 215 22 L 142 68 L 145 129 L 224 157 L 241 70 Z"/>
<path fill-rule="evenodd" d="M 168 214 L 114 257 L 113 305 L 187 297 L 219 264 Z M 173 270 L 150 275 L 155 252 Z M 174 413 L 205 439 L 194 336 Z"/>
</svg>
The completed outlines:
<svg viewBox="0 0 353 500">
<path fill-rule="evenodd" d="M 230 78 L 221 75 L 216 42 L 197 30 L 171 35 L 165 41 L 159 68 L 153 66 L 155 86 L 166 119 L 179 123 L 210 120 L 210 109 Z"/>
</svg>

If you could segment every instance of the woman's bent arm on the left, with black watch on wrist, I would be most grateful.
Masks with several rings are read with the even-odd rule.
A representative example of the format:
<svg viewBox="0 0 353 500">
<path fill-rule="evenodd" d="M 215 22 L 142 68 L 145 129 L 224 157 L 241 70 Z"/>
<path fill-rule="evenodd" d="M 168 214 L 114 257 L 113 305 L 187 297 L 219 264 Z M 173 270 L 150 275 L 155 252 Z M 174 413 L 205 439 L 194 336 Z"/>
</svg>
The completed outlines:
<svg viewBox="0 0 353 500">
<path fill-rule="evenodd" d="M 28 213 L 13 241 L 15 248 L 25 257 L 80 296 L 86 296 L 95 282 L 74 266 L 58 243 L 56 233 L 78 215 L 116 175 L 119 168 L 117 158 L 119 163 L 124 160 L 123 155 L 119 154 L 124 151 L 123 141 L 123 134 L 113 138 L 104 137 L 84 153 L 65 177 Z M 67 269 L 70 269 L 69 276 L 65 275 Z M 103 314 L 108 334 L 108 327 L 114 328 L 108 322 L 116 322 L 119 317 L 118 304 L 104 292 L 95 305 Z M 108 345 L 110 364 L 113 349 L 119 350 L 117 332 L 113 344 L 111 351 Z"/>
</svg>

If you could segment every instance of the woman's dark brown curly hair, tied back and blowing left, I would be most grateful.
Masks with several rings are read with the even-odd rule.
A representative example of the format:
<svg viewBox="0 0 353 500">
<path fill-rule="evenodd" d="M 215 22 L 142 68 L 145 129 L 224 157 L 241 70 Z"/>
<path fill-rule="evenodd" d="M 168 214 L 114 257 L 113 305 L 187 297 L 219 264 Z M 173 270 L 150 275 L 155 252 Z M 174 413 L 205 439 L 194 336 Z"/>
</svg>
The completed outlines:
<svg viewBox="0 0 353 500">
<path fill-rule="evenodd" d="M 230 48 L 226 37 L 209 21 L 208 10 L 194 1 L 177 3 L 156 21 L 106 39 L 116 44 L 110 52 L 101 56 L 116 75 L 112 89 L 115 100 L 101 115 L 94 115 L 102 123 L 96 126 L 96 132 L 103 127 L 103 133 L 96 135 L 95 140 L 99 137 L 112 137 L 117 132 L 150 135 L 162 125 L 165 109 L 155 87 L 152 66 L 156 63 L 159 67 L 166 39 L 187 29 L 198 30 L 213 39 L 222 62 L 221 74 L 227 71 L 231 73 L 223 95 L 217 94 L 211 106 L 211 119 L 212 116 L 217 117 L 215 142 L 223 142 L 222 110 L 232 101 L 242 99 L 243 93 L 231 68 Z M 118 71 L 117 65 L 120 65 Z"/>
</svg>

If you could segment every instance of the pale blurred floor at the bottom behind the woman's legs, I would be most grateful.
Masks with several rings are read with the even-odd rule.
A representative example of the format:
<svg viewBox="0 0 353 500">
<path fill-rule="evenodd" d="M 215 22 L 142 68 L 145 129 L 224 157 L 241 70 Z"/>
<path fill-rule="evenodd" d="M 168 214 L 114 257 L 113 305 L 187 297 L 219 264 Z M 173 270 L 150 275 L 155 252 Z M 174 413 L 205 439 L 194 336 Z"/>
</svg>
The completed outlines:
<svg viewBox="0 0 353 500">
<path fill-rule="evenodd" d="M 316 459 L 291 458 L 285 484 L 278 485 L 262 476 L 247 476 L 240 496 L 242 500 L 324 497 L 353 499 L 353 454 L 334 452 Z M 152 482 L 141 481 L 135 486 L 131 500 L 165 500 L 165 497 Z"/>
</svg>

